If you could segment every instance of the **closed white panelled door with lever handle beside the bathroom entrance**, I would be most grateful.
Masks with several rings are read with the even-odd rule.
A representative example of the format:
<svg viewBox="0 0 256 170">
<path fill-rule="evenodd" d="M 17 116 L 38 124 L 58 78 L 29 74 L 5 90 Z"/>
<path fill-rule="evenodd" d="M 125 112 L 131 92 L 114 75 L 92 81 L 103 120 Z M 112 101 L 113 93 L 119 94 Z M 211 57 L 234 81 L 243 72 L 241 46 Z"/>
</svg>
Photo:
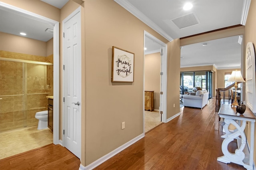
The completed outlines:
<svg viewBox="0 0 256 170">
<path fill-rule="evenodd" d="M 63 21 L 64 146 L 81 158 L 81 12 Z"/>
</svg>

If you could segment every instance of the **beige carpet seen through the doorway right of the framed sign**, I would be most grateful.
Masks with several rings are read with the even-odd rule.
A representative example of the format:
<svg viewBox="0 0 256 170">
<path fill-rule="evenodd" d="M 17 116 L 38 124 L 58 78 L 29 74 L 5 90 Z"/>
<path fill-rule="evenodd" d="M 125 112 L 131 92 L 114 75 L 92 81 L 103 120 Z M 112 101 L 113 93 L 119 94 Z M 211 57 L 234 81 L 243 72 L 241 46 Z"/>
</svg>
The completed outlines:
<svg viewBox="0 0 256 170">
<path fill-rule="evenodd" d="M 145 118 L 145 132 L 151 130 L 152 128 L 160 125 L 161 122 L 161 115 L 159 111 L 144 111 L 144 118 Z"/>
</svg>

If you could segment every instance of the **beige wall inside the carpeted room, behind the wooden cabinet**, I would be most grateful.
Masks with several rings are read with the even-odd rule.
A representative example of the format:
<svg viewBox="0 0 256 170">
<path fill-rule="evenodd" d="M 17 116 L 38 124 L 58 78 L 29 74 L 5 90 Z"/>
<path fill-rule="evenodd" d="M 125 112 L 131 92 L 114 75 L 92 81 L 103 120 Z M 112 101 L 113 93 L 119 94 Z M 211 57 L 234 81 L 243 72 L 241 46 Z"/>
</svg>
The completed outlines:
<svg viewBox="0 0 256 170">
<path fill-rule="evenodd" d="M 159 110 L 160 107 L 160 71 L 160 52 L 145 55 L 144 89 L 145 91 L 154 91 L 154 109 L 157 110 Z"/>
</svg>

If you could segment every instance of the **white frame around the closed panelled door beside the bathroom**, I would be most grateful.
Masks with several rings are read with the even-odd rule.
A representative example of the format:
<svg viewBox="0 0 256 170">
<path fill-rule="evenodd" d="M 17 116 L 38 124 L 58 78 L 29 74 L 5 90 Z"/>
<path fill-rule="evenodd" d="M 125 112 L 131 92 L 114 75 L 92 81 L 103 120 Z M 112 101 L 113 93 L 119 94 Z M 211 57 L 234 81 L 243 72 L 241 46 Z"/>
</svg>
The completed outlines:
<svg viewBox="0 0 256 170">
<path fill-rule="evenodd" d="M 67 22 L 68 20 L 70 20 L 70 18 L 72 18 L 73 16 L 75 16 L 77 13 L 80 13 L 80 15 L 82 15 L 81 14 L 81 6 L 79 6 L 78 8 L 76 8 L 76 10 L 74 10 L 71 14 L 69 14 L 63 21 L 62 21 L 62 34 L 64 33 L 64 24 L 65 24 L 65 22 Z M 82 16 L 80 16 L 80 17 L 82 17 Z M 62 54 L 64 54 L 64 38 L 62 38 Z M 81 40 L 81 43 L 82 43 L 82 40 Z M 82 52 L 82 44 L 80 45 L 80 47 L 81 47 L 81 52 Z M 82 53 L 81 53 L 81 55 L 82 55 Z M 81 56 L 81 60 L 82 60 L 82 56 Z M 62 55 L 62 63 L 64 64 L 64 55 Z M 81 68 L 82 68 L 82 66 L 81 66 Z M 82 74 L 82 72 L 81 72 L 81 74 Z M 81 76 L 81 79 L 82 79 L 82 76 Z M 62 85 L 63 85 L 63 88 L 62 88 L 62 96 L 64 96 L 64 70 L 62 69 Z M 82 81 L 81 81 L 81 88 L 82 88 Z M 82 93 L 81 93 L 81 101 L 80 101 L 80 104 L 82 103 Z M 63 105 L 62 105 L 62 113 L 63 113 L 63 115 L 62 115 L 62 129 L 65 129 L 65 116 L 64 116 L 64 109 L 65 109 L 65 107 L 64 107 L 64 103 L 63 103 Z M 82 117 L 82 107 L 80 108 L 81 109 L 81 117 Z M 81 127 L 80 127 L 81 129 L 80 129 L 80 131 L 82 132 L 82 122 L 81 122 Z M 82 134 L 80 134 L 80 138 L 81 138 L 81 147 L 82 147 Z M 65 147 L 65 142 L 64 142 L 65 140 L 64 140 L 64 138 L 62 138 L 62 146 L 64 146 Z M 80 150 L 81 150 L 81 147 L 80 147 Z M 80 153 L 80 156 L 82 156 L 82 153 Z"/>
</svg>

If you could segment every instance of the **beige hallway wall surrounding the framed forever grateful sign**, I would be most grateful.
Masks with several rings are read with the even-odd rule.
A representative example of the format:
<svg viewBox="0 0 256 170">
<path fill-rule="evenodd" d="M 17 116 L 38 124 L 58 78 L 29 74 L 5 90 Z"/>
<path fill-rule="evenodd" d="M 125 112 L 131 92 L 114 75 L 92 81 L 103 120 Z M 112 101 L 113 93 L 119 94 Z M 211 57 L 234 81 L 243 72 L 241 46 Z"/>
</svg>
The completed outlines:
<svg viewBox="0 0 256 170">
<path fill-rule="evenodd" d="M 79 7 L 69 1 L 61 10 L 40 0 L 2 0 L 60 22 Z M 85 8 L 83 8 L 83 6 Z M 40 8 L 39 8 L 40 7 Z M 179 113 L 180 40 L 168 42 L 113 0 L 82 4 L 82 165 L 86 166 L 143 133 L 144 30 L 168 44 L 167 119 Z M 135 53 L 134 83 L 112 83 L 112 46 Z M 50 50 L 49 50 L 50 51 Z M 49 54 L 49 53 L 47 53 Z M 46 54 L 46 55 L 47 55 Z M 98 69 L 97 69 L 98 68 Z M 60 67 L 60 99 L 62 99 Z M 177 89 L 177 90 L 174 90 Z M 173 108 L 173 104 L 176 107 Z M 60 139 L 62 139 L 60 102 Z M 121 123 L 126 128 L 121 130 Z"/>
</svg>

